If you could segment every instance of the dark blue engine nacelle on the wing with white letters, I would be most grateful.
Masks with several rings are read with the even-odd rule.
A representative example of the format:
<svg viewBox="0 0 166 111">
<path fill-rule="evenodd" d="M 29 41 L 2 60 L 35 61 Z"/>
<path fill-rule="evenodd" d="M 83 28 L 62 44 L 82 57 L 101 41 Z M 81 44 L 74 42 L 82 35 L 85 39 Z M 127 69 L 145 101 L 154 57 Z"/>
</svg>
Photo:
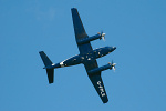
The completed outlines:
<svg viewBox="0 0 166 111">
<path fill-rule="evenodd" d="M 100 68 L 95 68 L 95 69 L 92 69 L 92 70 L 90 70 L 87 73 L 89 74 L 95 74 L 96 72 L 101 72 L 101 71 L 104 71 L 104 70 L 107 70 L 107 69 L 112 69 L 112 63 L 108 63 L 108 64 L 106 64 L 106 65 L 103 65 L 103 67 L 100 67 Z"/>
</svg>

